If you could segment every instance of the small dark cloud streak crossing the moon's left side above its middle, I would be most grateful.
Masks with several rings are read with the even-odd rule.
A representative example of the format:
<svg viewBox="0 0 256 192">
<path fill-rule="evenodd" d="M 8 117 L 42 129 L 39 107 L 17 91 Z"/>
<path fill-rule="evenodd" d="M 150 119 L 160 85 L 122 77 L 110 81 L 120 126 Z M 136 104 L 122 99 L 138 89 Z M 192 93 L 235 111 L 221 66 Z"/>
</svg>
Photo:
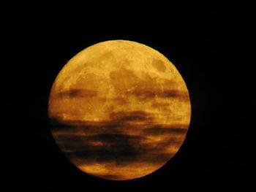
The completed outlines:
<svg viewBox="0 0 256 192">
<path fill-rule="evenodd" d="M 62 91 L 58 95 L 59 97 L 91 97 L 97 96 L 97 91 L 86 90 L 86 89 L 71 89 L 69 91 Z"/>
</svg>

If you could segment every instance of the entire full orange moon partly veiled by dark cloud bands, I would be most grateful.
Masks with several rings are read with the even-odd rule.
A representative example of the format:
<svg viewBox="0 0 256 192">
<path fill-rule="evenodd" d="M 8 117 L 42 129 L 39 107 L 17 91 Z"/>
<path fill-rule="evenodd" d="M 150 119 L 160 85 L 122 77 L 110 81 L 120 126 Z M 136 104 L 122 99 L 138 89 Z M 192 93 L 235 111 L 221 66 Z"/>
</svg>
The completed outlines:
<svg viewBox="0 0 256 192">
<path fill-rule="evenodd" d="M 132 180 L 161 168 L 186 138 L 189 91 L 151 47 L 110 40 L 87 47 L 59 72 L 48 116 L 60 150 L 78 169 Z"/>
</svg>

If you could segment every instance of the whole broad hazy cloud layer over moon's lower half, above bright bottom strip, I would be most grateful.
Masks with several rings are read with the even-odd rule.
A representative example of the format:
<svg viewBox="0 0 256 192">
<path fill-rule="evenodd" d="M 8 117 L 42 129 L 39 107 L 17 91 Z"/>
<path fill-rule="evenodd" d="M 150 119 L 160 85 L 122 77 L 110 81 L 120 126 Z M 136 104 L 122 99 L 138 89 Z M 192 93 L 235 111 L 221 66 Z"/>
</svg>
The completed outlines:
<svg viewBox="0 0 256 192">
<path fill-rule="evenodd" d="M 165 164 L 183 142 L 179 136 L 187 133 L 187 125 L 155 124 L 153 115 L 143 111 L 112 113 L 102 122 L 66 123 L 55 123 L 53 136 L 76 165 Z"/>
</svg>

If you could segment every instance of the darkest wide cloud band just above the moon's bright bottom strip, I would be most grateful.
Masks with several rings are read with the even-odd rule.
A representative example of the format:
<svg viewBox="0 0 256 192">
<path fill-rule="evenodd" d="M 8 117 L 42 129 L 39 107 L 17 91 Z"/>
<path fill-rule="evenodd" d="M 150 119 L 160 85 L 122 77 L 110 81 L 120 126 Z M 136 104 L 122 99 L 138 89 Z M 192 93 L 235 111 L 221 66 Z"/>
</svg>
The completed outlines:
<svg viewBox="0 0 256 192">
<path fill-rule="evenodd" d="M 132 162 L 163 164 L 173 154 L 166 147 L 178 141 L 151 141 L 146 137 L 127 134 L 55 135 L 56 142 L 75 164 L 110 163 L 123 166 Z"/>
</svg>

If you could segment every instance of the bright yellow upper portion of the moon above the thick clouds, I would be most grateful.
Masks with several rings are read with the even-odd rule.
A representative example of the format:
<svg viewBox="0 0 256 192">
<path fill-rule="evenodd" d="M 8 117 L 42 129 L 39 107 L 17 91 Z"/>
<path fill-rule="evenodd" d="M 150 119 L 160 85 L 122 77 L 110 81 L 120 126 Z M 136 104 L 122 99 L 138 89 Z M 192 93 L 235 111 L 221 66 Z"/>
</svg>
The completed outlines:
<svg viewBox="0 0 256 192">
<path fill-rule="evenodd" d="M 157 50 L 124 40 L 100 42 L 75 55 L 61 70 L 51 91 L 49 114 L 63 120 L 108 120 L 110 112 L 143 108 L 159 113 L 161 123 L 179 118 L 189 123 L 189 103 L 161 95 L 171 91 L 188 99 L 178 70 Z M 154 103 L 148 99 L 153 95 Z M 167 115 L 163 116 L 161 104 L 168 108 Z"/>
</svg>

